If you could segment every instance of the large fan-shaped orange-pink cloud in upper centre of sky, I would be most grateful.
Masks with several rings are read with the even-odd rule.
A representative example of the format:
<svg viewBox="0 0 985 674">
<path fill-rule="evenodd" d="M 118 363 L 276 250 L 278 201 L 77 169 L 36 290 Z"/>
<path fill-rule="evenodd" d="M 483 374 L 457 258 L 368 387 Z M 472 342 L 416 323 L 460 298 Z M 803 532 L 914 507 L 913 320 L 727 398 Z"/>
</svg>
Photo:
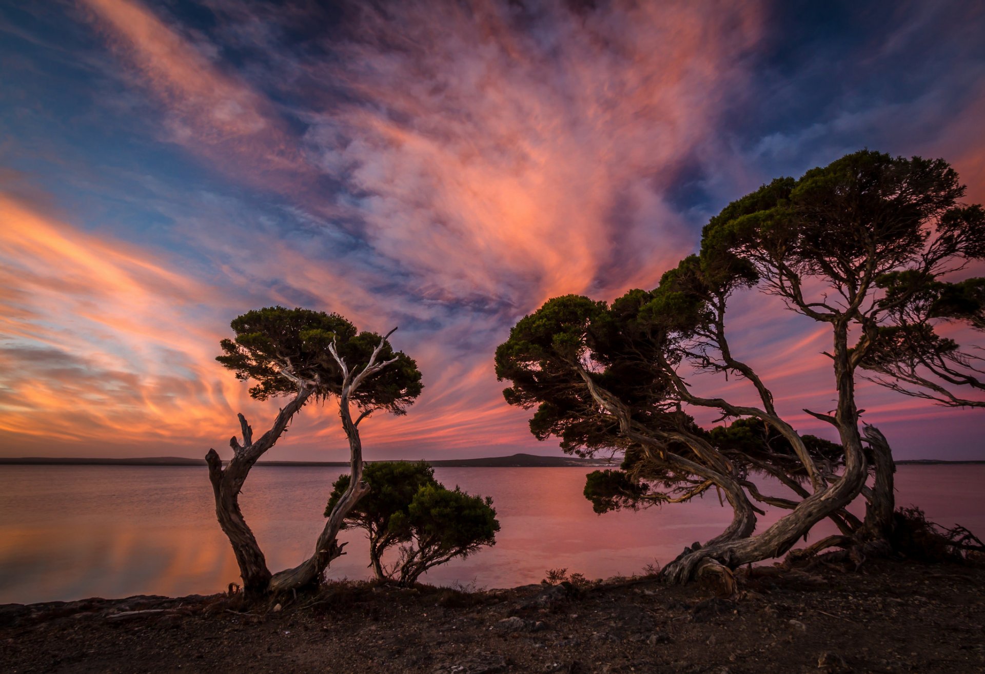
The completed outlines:
<svg viewBox="0 0 985 674">
<path fill-rule="evenodd" d="M 386 19 L 367 10 L 339 48 L 332 75 L 368 102 L 316 117 L 307 140 L 326 171 L 369 195 L 374 247 L 426 278 L 428 293 L 514 284 L 506 292 L 527 310 L 652 285 L 689 250 L 660 188 L 742 81 L 734 64 L 758 14 L 621 10 L 552 7 L 538 36 L 498 4 L 408 4 Z M 400 48 L 383 48 L 397 24 Z"/>
</svg>

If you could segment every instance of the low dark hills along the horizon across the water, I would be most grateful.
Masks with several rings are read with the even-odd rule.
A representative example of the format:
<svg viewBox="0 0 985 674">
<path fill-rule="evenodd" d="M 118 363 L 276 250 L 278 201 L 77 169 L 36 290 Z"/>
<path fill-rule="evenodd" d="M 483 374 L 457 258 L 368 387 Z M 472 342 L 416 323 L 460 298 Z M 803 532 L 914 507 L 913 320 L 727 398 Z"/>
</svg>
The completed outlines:
<svg viewBox="0 0 985 674">
<path fill-rule="evenodd" d="M 439 459 L 427 461 L 433 466 L 451 467 L 563 467 L 609 465 L 606 460 L 575 457 L 542 457 L 535 454 L 514 454 L 509 457 L 486 459 Z M 0 465 L 205 465 L 204 459 L 183 457 L 140 457 L 130 459 L 55 459 L 49 457 L 0 458 Z M 258 466 L 332 466 L 349 465 L 349 461 L 257 461 Z"/>
</svg>

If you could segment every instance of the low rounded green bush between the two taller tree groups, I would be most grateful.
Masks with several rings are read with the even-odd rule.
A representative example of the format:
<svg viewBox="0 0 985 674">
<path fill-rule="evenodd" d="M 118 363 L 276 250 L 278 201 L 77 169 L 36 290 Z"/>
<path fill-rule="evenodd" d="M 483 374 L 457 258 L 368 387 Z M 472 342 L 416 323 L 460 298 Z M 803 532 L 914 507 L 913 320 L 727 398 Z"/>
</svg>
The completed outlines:
<svg viewBox="0 0 985 674">
<path fill-rule="evenodd" d="M 455 557 L 467 557 L 495 544 L 499 522 L 490 498 L 446 489 L 434 479 L 426 461 L 377 461 L 363 472 L 369 493 L 345 520 L 365 529 L 369 564 L 377 581 L 413 585 L 422 574 Z M 325 517 L 349 488 L 349 475 L 334 484 Z M 383 554 L 399 546 L 398 559 L 387 566 Z"/>
</svg>

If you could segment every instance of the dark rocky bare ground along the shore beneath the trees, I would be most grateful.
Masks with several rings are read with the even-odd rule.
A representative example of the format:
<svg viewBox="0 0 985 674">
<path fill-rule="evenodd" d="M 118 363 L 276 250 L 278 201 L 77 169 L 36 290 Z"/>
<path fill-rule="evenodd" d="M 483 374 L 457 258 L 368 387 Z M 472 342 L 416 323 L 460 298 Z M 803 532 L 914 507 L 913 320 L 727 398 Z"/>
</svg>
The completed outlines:
<svg viewBox="0 0 985 674">
<path fill-rule="evenodd" d="M 985 567 L 463 592 L 332 584 L 280 606 L 131 597 L 0 607 L 6 672 L 985 672 Z"/>
</svg>

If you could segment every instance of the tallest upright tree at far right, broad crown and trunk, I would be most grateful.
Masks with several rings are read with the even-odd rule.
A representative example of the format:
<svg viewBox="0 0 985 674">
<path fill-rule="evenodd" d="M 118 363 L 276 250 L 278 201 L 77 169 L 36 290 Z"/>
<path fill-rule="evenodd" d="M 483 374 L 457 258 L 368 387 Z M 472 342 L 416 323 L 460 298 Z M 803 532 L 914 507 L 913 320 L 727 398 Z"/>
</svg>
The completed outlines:
<svg viewBox="0 0 985 674">
<path fill-rule="evenodd" d="M 906 307 L 919 304 L 928 283 L 985 254 L 985 218 L 980 207 L 959 202 L 964 191 L 943 159 L 861 151 L 799 180 L 774 180 L 705 227 L 702 262 L 735 258 L 751 265 L 760 290 L 831 330 L 826 355 L 837 405 L 833 414 L 808 411 L 837 430 L 845 469 L 805 499 L 794 529 L 809 524 L 813 517 L 803 516 L 816 512 L 815 503 L 845 502 L 861 492 L 869 508 L 859 533 L 885 542 L 892 521 L 893 464 L 878 429 L 867 427 L 862 437 L 856 373 L 878 350 L 884 329 Z M 892 283 L 893 278 L 910 281 Z M 865 487 L 870 467 L 876 472 L 872 490 Z"/>
</svg>

